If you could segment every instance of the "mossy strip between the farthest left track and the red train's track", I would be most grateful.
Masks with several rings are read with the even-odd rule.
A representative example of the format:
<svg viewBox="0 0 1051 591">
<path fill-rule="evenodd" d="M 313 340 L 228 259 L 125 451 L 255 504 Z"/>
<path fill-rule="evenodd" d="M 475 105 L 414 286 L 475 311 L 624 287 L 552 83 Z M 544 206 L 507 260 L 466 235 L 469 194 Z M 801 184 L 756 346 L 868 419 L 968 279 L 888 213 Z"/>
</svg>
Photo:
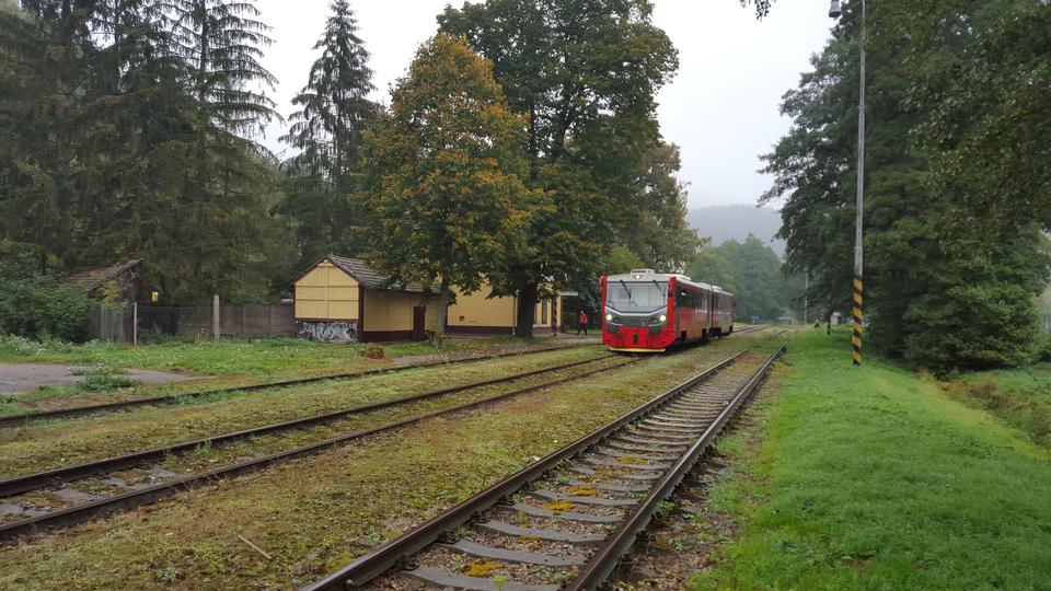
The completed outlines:
<svg viewBox="0 0 1051 591">
<path fill-rule="evenodd" d="M 580 347 L 359 380 L 333 380 L 303 386 L 223 394 L 210 403 L 195 399 L 186 406 L 142 407 L 97 418 L 32 422 L 24 427 L 0 430 L 0 475 L 11 476 L 77 464 L 603 355 L 607 354 L 599 347 Z M 531 379 L 527 383 L 551 380 L 551 376 L 545 375 Z M 489 386 L 464 395 L 435 398 L 411 407 L 378 410 L 340 421 L 335 429 L 347 432 L 365 426 L 382 425 L 421 412 L 453 406 L 458 402 L 462 404 L 465 398 L 508 391 L 516 387 L 516 384 L 521 386 L 520 382 Z M 315 431 L 323 433 L 326 429 L 332 427 L 321 427 Z M 311 437 L 307 433 L 307 439 Z M 324 433 L 314 440 L 323 438 Z"/>
</svg>

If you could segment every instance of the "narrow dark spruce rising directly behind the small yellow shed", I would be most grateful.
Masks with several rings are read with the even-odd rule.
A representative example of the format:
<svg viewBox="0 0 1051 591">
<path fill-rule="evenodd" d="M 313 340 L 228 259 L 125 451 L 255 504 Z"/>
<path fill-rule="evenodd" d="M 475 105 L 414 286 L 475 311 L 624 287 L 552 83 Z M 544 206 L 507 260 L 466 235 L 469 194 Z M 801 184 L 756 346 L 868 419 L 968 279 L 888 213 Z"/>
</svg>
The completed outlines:
<svg viewBox="0 0 1051 591">
<path fill-rule="evenodd" d="M 281 207 L 299 222 L 303 260 L 326 252 L 354 254 L 358 247 L 346 230 L 353 221 L 348 195 L 358 165 L 361 138 L 378 106 L 369 53 L 347 0 L 334 0 L 325 31 L 314 45 L 322 54 L 310 69 L 307 85 L 293 100 L 299 111 L 281 141 L 301 150 L 284 163 L 288 197 Z"/>
</svg>

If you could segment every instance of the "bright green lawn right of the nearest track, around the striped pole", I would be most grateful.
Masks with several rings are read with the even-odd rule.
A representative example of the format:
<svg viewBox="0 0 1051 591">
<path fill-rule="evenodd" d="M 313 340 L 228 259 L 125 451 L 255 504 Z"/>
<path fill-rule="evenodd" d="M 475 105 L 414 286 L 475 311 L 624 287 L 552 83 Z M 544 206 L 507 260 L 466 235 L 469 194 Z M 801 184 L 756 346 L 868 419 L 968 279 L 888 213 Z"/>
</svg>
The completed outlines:
<svg viewBox="0 0 1051 591">
<path fill-rule="evenodd" d="M 712 491 L 740 525 L 692 589 L 1047 589 L 1051 455 L 845 333 L 789 348 L 765 438 Z"/>
</svg>

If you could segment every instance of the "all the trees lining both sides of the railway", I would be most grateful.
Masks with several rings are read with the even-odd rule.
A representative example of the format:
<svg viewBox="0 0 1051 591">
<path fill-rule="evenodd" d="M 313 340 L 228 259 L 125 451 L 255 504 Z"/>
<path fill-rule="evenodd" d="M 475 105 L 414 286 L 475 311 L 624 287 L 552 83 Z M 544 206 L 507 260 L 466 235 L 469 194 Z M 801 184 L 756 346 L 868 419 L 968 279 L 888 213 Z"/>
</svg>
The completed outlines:
<svg viewBox="0 0 1051 591">
<path fill-rule="evenodd" d="M 821 316 L 851 301 L 855 4 L 785 95 L 794 126 L 764 157 L 786 270 Z M 528 334 L 524 304 L 551 287 L 634 266 L 715 276 L 735 246 L 695 259 L 678 149 L 655 117 L 678 55 L 651 10 L 449 7 L 386 108 L 367 99 L 369 55 L 336 0 L 288 119 L 297 155 L 279 162 L 254 139 L 281 114 L 252 2 L 0 0 L 4 298 L 46 309 L 56 274 L 136 257 L 162 303 L 253 302 L 338 252 L 395 280 L 485 279 L 523 300 Z M 1028 362 L 1049 276 L 1051 5 L 876 3 L 867 30 L 867 344 L 938 371 Z M 747 291 L 769 274 L 723 277 Z"/>
</svg>

